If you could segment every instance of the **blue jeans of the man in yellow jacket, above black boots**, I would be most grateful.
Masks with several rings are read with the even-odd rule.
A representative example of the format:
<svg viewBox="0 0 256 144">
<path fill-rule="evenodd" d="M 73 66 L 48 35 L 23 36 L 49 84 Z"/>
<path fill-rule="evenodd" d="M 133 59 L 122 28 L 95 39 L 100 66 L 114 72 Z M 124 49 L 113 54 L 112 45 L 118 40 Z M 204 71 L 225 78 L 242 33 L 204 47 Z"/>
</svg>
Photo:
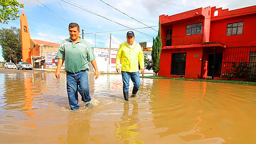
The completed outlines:
<svg viewBox="0 0 256 144">
<path fill-rule="evenodd" d="M 140 76 L 139 76 L 139 71 L 137 72 L 127 72 L 127 71 L 122 71 L 122 78 L 123 78 L 123 92 L 128 92 L 129 91 L 129 82 L 130 78 L 133 82 L 133 89 L 139 90 L 140 88 Z"/>
</svg>

